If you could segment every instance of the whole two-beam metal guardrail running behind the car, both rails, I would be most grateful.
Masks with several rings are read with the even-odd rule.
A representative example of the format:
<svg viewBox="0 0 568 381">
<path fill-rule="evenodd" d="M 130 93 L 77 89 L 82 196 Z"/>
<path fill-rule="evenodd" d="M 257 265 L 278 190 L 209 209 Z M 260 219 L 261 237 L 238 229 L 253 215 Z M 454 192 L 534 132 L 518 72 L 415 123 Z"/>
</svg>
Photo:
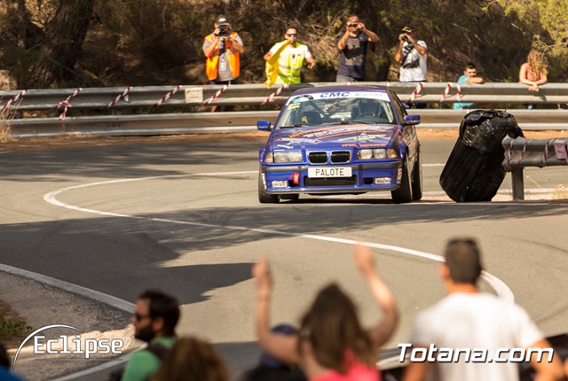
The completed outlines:
<svg viewBox="0 0 568 381">
<path fill-rule="evenodd" d="M 418 92 L 416 83 L 361 82 L 390 85 L 403 101 L 414 97 L 423 103 L 457 101 L 455 83 L 425 82 Z M 0 91 L 3 111 L 52 112 L 53 118 L 22 118 L 4 120 L 13 136 L 53 136 L 59 134 L 99 135 L 163 135 L 208 132 L 208 129 L 230 131 L 255 129 L 256 120 L 274 121 L 277 112 L 240 113 L 156 113 L 162 108 L 180 109 L 199 105 L 281 105 L 296 89 L 337 85 L 336 82 L 300 83 L 289 86 L 262 84 L 217 86 L 141 86 L 128 88 L 30 89 Z M 416 94 L 418 92 L 418 94 Z M 460 84 L 462 102 L 474 103 L 536 103 L 568 104 L 568 84 L 548 83 L 539 93 L 529 92 L 519 83 Z M 144 114 L 120 115 L 126 108 L 142 109 Z M 91 116 L 71 117 L 74 110 Z M 448 109 L 413 109 L 421 115 L 420 128 L 457 128 L 467 111 Z M 568 128 L 568 110 L 516 110 L 515 116 L 524 129 Z M 101 115 L 102 114 L 102 115 Z M 59 121 L 61 119 L 62 121 Z"/>
</svg>

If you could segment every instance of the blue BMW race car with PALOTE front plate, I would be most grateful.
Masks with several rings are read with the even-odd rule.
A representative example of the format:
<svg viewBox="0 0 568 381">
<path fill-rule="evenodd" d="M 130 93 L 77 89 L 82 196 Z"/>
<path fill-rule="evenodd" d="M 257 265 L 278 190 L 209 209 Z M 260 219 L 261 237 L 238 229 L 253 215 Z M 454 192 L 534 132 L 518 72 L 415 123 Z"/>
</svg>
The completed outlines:
<svg viewBox="0 0 568 381">
<path fill-rule="evenodd" d="M 258 199 L 277 203 L 300 193 L 390 191 L 394 203 L 422 198 L 416 128 L 384 86 L 327 86 L 295 91 L 259 152 Z"/>
</svg>

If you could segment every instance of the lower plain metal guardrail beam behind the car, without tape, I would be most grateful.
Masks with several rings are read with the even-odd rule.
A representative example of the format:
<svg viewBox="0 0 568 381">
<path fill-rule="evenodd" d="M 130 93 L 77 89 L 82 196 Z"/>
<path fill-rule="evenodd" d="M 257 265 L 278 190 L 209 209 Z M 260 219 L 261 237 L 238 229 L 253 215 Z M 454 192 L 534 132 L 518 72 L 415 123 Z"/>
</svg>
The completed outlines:
<svg viewBox="0 0 568 381">
<path fill-rule="evenodd" d="M 459 128 L 465 110 L 411 109 L 421 116 L 419 129 Z M 58 118 L 25 118 L 4 121 L 14 137 L 60 135 L 156 136 L 211 132 L 256 131 L 256 121 L 276 120 L 278 111 L 231 113 L 154 113 Z M 568 129 L 568 110 L 515 110 L 524 130 Z"/>
</svg>

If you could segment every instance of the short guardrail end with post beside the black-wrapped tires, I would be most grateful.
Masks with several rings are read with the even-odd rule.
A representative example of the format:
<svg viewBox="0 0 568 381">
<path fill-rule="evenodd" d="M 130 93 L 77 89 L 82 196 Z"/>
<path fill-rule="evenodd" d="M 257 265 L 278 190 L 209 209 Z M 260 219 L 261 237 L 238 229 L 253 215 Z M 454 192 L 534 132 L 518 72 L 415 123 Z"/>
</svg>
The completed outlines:
<svg viewBox="0 0 568 381">
<path fill-rule="evenodd" d="M 513 198 L 525 199 L 524 167 L 551 167 L 568 165 L 568 139 L 545 140 L 512 138 L 506 136 L 501 144 L 505 149 L 502 166 L 510 171 L 513 182 Z"/>
</svg>

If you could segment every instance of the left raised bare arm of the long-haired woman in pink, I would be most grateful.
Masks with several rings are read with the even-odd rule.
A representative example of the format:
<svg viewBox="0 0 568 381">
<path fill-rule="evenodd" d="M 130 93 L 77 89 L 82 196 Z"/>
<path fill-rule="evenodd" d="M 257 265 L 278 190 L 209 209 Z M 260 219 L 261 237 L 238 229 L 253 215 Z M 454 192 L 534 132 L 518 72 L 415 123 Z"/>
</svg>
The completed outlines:
<svg viewBox="0 0 568 381">
<path fill-rule="evenodd" d="M 252 268 L 256 279 L 256 338 L 264 351 L 287 364 L 300 363 L 297 336 L 278 335 L 270 330 L 270 299 L 272 273 L 267 258 L 261 258 Z"/>
</svg>

